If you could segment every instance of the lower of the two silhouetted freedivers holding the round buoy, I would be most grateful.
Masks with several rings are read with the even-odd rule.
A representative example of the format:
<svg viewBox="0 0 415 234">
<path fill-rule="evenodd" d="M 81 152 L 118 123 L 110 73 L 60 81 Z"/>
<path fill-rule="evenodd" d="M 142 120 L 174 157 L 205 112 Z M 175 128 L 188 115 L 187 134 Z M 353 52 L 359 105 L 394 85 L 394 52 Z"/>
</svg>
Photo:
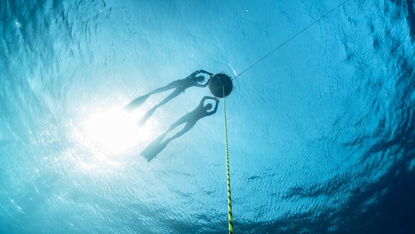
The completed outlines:
<svg viewBox="0 0 415 234">
<path fill-rule="evenodd" d="M 213 111 L 208 112 L 208 110 L 212 109 L 212 104 L 208 103 L 204 105 L 207 99 L 212 99 L 216 101 L 216 105 Z M 187 113 L 186 115 L 181 117 L 176 123 L 172 124 L 172 126 L 170 126 L 166 132 L 164 132 L 162 135 L 153 140 L 147 147 L 145 147 L 145 149 L 140 154 L 147 159 L 147 162 L 149 162 L 159 152 L 161 152 L 161 150 L 163 150 L 170 141 L 180 137 L 181 135 L 185 134 L 187 131 L 192 129 L 192 127 L 196 124 L 196 122 L 199 119 L 216 113 L 218 109 L 218 103 L 219 99 L 217 98 L 207 96 L 203 97 L 202 101 L 200 101 L 199 105 L 192 112 Z M 183 127 L 181 131 L 177 132 L 174 136 L 162 141 L 170 131 L 184 123 L 186 123 L 186 125 Z"/>
</svg>

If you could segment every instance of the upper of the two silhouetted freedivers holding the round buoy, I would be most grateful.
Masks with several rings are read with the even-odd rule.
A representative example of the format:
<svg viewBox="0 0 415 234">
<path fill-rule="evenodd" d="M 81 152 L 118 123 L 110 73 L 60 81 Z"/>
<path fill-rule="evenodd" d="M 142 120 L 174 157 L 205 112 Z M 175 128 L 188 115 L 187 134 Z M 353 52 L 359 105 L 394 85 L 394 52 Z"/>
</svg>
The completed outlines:
<svg viewBox="0 0 415 234">
<path fill-rule="evenodd" d="M 132 110 L 134 108 L 139 107 L 141 104 L 143 104 L 145 102 L 145 100 L 147 100 L 147 98 L 150 97 L 152 94 L 158 94 L 158 93 L 161 93 L 161 92 L 164 92 L 164 91 L 175 89 L 169 96 L 167 96 L 166 98 L 161 100 L 160 103 L 153 106 L 150 110 L 148 110 L 144 114 L 143 117 L 141 117 L 141 119 L 138 121 L 138 123 L 139 123 L 139 125 L 143 125 L 150 118 L 150 116 L 154 113 L 154 111 L 157 108 L 159 108 L 160 106 L 166 104 L 167 102 L 169 102 L 173 98 L 176 98 L 182 92 L 184 93 L 187 88 L 190 88 L 190 87 L 207 87 L 208 84 L 209 84 L 210 79 L 205 84 L 201 84 L 205 81 L 205 77 L 203 75 L 196 76 L 199 73 L 205 73 L 205 74 L 208 74 L 209 76 L 213 75 L 213 73 L 207 72 L 205 70 L 197 70 L 197 71 L 193 72 L 192 74 L 190 74 L 189 76 L 187 76 L 185 79 L 174 81 L 174 82 L 170 83 L 167 86 L 158 88 L 158 89 L 156 89 L 156 90 L 154 90 L 154 91 L 152 91 L 152 92 L 150 92 L 146 95 L 143 95 L 141 97 L 138 97 L 138 98 L 134 99 L 132 102 L 130 102 L 128 105 L 126 105 L 124 107 L 124 109 Z"/>
</svg>

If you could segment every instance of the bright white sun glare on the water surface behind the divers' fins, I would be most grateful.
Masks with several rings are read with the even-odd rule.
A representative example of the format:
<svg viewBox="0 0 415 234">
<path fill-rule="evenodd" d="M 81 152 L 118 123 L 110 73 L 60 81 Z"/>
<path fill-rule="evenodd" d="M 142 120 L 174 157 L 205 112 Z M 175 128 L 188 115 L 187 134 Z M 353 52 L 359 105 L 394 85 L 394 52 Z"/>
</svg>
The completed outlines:
<svg viewBox="0 0 415 234">
<path fill-rule="evenodd" d="M 82 124 L 86 140 L 113 153 L 126 151 L 149 136 L 148 129 L 138 127 L 137 117 L 120 108 L 96 113 Z"/>
</svg>

